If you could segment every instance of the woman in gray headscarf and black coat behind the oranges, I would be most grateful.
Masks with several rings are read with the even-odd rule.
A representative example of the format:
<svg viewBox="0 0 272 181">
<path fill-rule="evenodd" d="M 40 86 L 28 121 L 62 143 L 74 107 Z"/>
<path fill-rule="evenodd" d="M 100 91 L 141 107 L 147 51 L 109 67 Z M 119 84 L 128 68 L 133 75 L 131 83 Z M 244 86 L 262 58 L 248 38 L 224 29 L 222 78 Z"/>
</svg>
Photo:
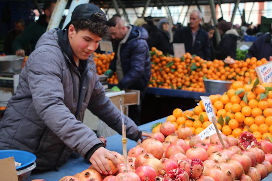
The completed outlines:
<svg viewBox="0 0 272 181">
<path fill-rule="evenodd" d="M 158 50 L 162 51 L 164 55 L 173 54 L 173 45 L 169 42 L 170 33 L 169 33 L 169 22 L 167 19 L 160 19 L 158 25 L 158 30 L 154 34 L 151 40 L 151 47 L 156 47 Z"/>
</svg>

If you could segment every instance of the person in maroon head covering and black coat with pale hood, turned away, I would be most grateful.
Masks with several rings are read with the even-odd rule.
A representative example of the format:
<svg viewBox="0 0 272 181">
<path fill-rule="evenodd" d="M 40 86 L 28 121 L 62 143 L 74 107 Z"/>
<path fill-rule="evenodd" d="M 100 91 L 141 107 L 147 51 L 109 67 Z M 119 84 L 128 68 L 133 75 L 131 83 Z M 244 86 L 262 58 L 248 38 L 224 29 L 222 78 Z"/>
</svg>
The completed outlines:
<svg viewBox="0 0 272 181">
<path fill-rule="evenodd" d="M 215 58 L 224 60 L 227 56 L 236 59 L 237 40 L 239 34 L 235 29 L 232 29 L 232 23 L 220 21 L 217 24 L 217 29 L 221 35 L 221 41 L 215 50 Z"/>
</svg>

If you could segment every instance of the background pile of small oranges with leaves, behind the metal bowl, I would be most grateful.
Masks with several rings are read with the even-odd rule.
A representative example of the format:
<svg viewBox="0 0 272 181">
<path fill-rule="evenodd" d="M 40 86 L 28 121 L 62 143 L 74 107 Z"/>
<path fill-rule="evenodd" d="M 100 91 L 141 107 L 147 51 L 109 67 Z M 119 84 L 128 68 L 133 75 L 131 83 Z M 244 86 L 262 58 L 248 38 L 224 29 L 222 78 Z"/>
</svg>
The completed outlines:
<svg viewBox="0 0 272 181">
<path fill-rule="evenodd" d="M 246 61 L 225 64 L 222 60 L 206 61 L 185 53 L 182 58 L 164 56 L 155 47 L 151 49 L 151 78 L 149 87 L 205 92 L 203 79 L 241 81 L 247 84 L 257 77 L 255 68 L 267 63 L 255 57 Z"/>
</svg>

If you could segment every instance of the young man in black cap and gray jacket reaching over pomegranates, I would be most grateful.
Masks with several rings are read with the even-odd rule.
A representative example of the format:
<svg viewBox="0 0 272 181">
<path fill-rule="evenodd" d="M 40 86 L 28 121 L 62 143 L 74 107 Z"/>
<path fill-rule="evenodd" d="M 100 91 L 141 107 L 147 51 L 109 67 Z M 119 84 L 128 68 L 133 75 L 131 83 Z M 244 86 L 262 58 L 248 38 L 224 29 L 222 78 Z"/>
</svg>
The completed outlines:
<svg viewBox="0 0 272 181">
<path fill-rule="evenodd" d="M 37 169 L 54 169 L 76 151 L 100 172 L 111 174 L 105 157 L 117 164 L 111 151 L 83 125 L 89 109 L 121 134 L 118 108 L 105 97 L 92 59 L 108 31 L 103 11 L 93 4 L 75 8 L 66 30 L 55 28 L 42 35 L 28 57 L 15 95 L 0 122 L 0 150 L 34 153 Z M 124 116 L 128 138 L 138 141 L 137 125 Z"/>
</svg>

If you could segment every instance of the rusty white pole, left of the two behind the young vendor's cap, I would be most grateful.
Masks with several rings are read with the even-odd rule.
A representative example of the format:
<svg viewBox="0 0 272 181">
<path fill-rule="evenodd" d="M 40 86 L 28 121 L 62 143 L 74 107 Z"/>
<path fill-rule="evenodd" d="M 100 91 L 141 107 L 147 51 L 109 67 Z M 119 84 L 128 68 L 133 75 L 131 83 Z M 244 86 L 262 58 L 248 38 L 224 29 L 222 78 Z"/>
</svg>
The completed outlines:
<svg viewBox="0 0 272 181">
<path fill-rule="evenodd" d="M 59 27 L 63 11 L 66 8 L 67 2 L 68 0 L 57 0 L 46 31 Z"/>
</svg>

